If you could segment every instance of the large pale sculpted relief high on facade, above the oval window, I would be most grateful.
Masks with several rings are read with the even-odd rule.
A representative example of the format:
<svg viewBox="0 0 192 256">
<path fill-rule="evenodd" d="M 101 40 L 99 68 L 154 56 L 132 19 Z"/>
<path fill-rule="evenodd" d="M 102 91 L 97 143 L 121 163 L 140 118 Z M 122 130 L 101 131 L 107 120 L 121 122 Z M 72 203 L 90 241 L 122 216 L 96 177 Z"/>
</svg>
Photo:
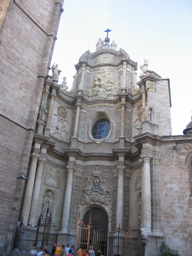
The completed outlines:
<svg viewBox="0 0 192 256">
<path fill-rule="evenodd" d="M 106 98 L 115 95 L 117 87 L 118 84 L 113 79 L 113 73 L 101 69 L 92 82 L 90 89 L 92 93 L 98 95 L 99 98 Z"/>
</svg>

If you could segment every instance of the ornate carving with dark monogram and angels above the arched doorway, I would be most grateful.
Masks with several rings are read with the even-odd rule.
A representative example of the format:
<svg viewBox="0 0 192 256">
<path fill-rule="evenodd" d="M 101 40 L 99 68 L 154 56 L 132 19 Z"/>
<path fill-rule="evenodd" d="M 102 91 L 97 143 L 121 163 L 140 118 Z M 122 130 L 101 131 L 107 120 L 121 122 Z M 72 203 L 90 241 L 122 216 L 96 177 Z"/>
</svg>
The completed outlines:
<svg viewBox="0 0 192 256">
<path fill-rule="evenodd" d="M 91 202 L 100 202 L 108 205 L 111 201 L 111 193 L 107 190 L 109 186 L 109 177 L 103 176 L 97 167 L 93 174 L 86 177 L 85 187 L 82 189 L 81 205 L 90 204 Z"/>
</svg>

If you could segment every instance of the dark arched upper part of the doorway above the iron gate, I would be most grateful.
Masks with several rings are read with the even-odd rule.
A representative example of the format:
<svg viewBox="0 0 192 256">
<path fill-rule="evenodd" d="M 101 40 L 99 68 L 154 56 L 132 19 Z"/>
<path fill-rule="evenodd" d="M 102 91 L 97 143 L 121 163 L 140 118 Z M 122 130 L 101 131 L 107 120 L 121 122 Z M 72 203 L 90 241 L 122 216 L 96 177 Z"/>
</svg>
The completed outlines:
<svg viewBox="0 0 192 256">
<path fill-rule="evenodd" d="M 106 230 L 108 230 L 108 216 L 102 209 L 91 208 L 86 211 L 83 216 L 83 222 L 85 226 L 87 226 L 89 223 L 90 215 L 93 229 L 98 231 L 102 228 L 105 228 Z"/>
</svg>

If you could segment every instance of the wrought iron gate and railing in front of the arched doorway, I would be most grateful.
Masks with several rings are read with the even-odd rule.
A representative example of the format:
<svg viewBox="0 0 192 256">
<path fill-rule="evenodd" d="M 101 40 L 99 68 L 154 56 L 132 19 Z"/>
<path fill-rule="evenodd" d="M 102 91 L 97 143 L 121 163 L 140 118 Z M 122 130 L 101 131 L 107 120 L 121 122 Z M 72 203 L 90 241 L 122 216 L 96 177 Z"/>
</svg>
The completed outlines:
<svg viewBox="0 0 192 256">
<path fill-rule="evenodd" d="M 136 234 L 133 232 L 125 233 L 120 227 L 117 227 L 112 232 L 106 229 L 96 231 L 92 228 L 91 217 L 87 227 L 78 218 L 77 250 L 81 247 L 86 249 L 91 246 L 95 251 L 95 255 L 100 250 L 101 255 L 105 256 L 113 256 L 114 254 L 120 254 L 122 256 L 144 256 L 144 242 L 140 231 Z"/>
</svg>

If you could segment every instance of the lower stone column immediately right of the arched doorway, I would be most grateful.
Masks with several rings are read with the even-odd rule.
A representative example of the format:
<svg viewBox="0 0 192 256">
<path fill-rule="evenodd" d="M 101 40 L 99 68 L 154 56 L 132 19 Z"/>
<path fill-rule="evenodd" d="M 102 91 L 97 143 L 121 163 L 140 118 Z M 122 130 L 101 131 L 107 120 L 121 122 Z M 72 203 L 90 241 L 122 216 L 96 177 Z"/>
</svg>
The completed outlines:
<svg viewBox="0 0 192 256">
<path fill-rule="evenodd" d="M 122 228 L 125 166 L 118 165 L 117 170 L 118 170 L 118 187 L 117 187 L 117 205 L 116 205 L 116 227 L 120 223 L 120 228 Z"/>
</svg>

